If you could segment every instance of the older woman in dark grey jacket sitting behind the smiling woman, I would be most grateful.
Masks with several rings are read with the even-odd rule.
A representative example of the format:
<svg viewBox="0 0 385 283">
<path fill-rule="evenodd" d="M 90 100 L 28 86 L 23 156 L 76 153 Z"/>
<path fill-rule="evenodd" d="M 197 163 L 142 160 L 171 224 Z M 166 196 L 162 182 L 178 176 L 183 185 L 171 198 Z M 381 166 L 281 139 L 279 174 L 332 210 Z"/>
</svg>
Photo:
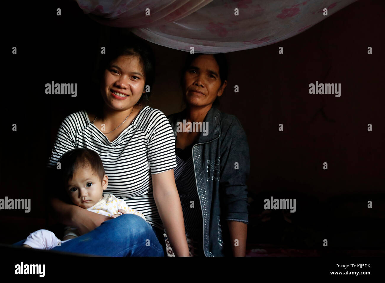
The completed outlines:
<svg viewBox="0 0 385 283">
<path fill-rule="evenodd" d="M 245 255 L 249 149 L 238 119 L 213 107 L 226 84 L 223 54 L 189 55 L 181 80 L 187 107 L 168 117 L 176 135 L 176 186 L 194 256 Z"/>
</svg>

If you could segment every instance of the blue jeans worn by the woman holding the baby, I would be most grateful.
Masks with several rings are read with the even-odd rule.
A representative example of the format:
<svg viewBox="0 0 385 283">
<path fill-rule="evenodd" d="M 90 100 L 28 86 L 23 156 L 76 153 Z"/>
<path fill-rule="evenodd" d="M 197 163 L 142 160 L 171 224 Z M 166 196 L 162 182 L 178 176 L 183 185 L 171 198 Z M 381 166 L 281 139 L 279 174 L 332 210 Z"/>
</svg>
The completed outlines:
<svg viewBox="0 0 385 283">
<path fill-rule="evenodd" d="M 140 216 L 123 214 L 52 250 L 96 256 L 164 256 L 159 231 Z"/>
</svg>

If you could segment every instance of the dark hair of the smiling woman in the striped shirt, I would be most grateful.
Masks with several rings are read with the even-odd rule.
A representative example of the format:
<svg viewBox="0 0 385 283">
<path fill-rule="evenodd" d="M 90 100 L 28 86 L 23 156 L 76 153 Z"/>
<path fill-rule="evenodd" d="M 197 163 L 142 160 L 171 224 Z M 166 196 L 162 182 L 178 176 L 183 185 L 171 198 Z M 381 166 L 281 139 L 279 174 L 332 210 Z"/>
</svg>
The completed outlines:
<svg viewBox="0 0 385 283">
<path fill-rule="evenodd" d="M 113 41 L 113 43 L 111 41 Z M 146 77 L 144 84 L 145 89 L 148 85 L 150 92 L 143 93 L 137 104 L 134 106 L 143 107 L 146 105 L 150 98 L 152 85 L 154 84 L 155 80 L 155 57 L 152 53 L 151 47 L 147 44 L 146 41 L 133 34 L 123 34 L 118 37 L 118 40 L 111 39 L 109 40 L 108 44 L 102 43 L 102 46 L 105 47 L 105 54 L 99 55 L 99 64 L 97 65 L 97 69 L 93 78 L 95 91 L 99 92 L 100 94 L 100 83 L 104 79 L 105 69 L 109 67 L 113 60 L 117 59 L 121 55 L 137 56 Z M 104 101 L 101 95 L 98 95 L 97 101 L 93 103 L 93 107 L 96 108 L 94 111 L 97 112 L 99 116 L 102 116 L 103 103 Z"/>
</svg>

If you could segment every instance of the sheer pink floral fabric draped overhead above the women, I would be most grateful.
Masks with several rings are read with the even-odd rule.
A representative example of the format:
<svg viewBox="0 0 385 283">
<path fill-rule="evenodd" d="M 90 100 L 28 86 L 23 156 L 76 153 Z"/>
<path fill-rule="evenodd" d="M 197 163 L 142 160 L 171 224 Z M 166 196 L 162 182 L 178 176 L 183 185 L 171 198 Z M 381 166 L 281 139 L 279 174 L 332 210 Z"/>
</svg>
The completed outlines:
<svg viewBox="0 0 385 283">
<path fill-rule="evenodd" d="M 194 47 L 197 53 L 225 53 L 280 42 L 357 0 L 76 1 L 97 22 L 130 28 L 155 44 L 184 51 Z"/>
</svg>

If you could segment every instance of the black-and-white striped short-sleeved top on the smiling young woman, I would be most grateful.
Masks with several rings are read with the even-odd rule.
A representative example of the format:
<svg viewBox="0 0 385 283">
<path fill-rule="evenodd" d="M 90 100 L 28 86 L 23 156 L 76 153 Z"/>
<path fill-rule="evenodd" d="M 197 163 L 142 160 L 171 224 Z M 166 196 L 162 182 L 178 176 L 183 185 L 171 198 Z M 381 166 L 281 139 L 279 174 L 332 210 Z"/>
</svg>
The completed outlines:
<svg viewBox="0 0 385 283">
<path fill-rule="evenodd" d="M 85 110 L 70 114 L 59 127 L 47 166 L 56 167 L 60 157 L 75 148 L 99 154 L 108 176 L 105 193 L 124 199 L 149 224 L 163 229 L 152 195 L 151 174 L 174 169 L 176 157 L 174 132 L 161 111 L 144 107 L 112 142 L 91 124 Z"/>
</svg>

